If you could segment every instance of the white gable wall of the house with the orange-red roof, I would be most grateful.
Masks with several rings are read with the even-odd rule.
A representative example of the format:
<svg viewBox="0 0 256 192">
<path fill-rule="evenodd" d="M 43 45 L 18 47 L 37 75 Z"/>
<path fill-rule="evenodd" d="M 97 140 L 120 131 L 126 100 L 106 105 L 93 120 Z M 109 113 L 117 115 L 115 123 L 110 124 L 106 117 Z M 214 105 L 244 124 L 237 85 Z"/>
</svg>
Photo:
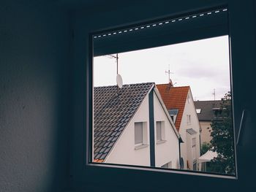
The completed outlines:
<svg viewBox="0 0 256 192">
<path fill-rule="evenodd" d="M 189 89 L 190 101 L 186 101 L 184 112 L 181 119 L 181 126 L 179 129 L 179 134 L 181 134 L 181 138 L 184 143 L 181 144 L 181 157 L 184 158 L 184 169 L 187 169 L 187 161 L 189 161 L 189 169 L 193 168 L 193 160 L 192 160 L 192 138 L 196 137 L 196 158 L 200 157 L 200 124 L 197 118 L 197 114 L 195 112 L 195 105 L 192 98 L 192 93 Z M 187 124 L 187 115 L 191 115 L 191 123 Z M 192 135 L 192 137 L 187 138 L 186 130 L 188 128 L 193 128 L 197 131 L 197 134 Z"/>
</svg>

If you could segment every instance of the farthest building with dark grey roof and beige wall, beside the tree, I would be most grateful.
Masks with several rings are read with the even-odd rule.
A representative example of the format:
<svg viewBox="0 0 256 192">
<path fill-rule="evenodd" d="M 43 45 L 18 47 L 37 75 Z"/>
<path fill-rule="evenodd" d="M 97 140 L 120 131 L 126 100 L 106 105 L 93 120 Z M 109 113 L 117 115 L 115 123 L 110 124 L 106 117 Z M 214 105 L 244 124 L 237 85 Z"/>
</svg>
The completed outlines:
<svg viewBox="0 0 256 192">
<path fill-rule="evenodd" d="M 217 119 L 221 113 L 221 100 L 216 101 L 194 101 L 197 117 L 202 129 L 201 145 L 211 141 L 211 120 Z"/>
</svg>

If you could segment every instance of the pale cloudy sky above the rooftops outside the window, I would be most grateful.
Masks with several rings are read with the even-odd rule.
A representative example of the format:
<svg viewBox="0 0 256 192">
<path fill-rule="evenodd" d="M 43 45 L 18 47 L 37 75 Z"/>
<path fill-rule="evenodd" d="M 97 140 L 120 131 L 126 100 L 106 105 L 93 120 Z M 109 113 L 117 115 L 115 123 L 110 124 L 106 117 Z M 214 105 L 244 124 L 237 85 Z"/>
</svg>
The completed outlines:
<svg viewBox="0 0 256 192">
<path fill-rule="evenodd" d="M 114 55 L 114 54 L 113 54 Z M 169 82 L 189 85 L 194 100 L 221 99 L 230 91 L 228 36 L 118 53 L 123 84 Z M 116 85 L 116 59 L 94 57 L 94 86 Z"/>
</svg>

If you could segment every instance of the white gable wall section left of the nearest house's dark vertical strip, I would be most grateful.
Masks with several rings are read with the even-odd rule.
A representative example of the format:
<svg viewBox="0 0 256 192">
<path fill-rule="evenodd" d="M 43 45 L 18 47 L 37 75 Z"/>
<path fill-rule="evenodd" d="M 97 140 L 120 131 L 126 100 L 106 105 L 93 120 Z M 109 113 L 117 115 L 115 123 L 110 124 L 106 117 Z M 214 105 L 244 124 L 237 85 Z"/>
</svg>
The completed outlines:
<svg viewBox="0 0 256 192">
<path fill-rule="evenodd" d="M 147 122 L 148 146 L 135 150 L 135 122 Z M 105 163 L 150 166 L 148 95 L 118 138 Z"/>
</svg>

